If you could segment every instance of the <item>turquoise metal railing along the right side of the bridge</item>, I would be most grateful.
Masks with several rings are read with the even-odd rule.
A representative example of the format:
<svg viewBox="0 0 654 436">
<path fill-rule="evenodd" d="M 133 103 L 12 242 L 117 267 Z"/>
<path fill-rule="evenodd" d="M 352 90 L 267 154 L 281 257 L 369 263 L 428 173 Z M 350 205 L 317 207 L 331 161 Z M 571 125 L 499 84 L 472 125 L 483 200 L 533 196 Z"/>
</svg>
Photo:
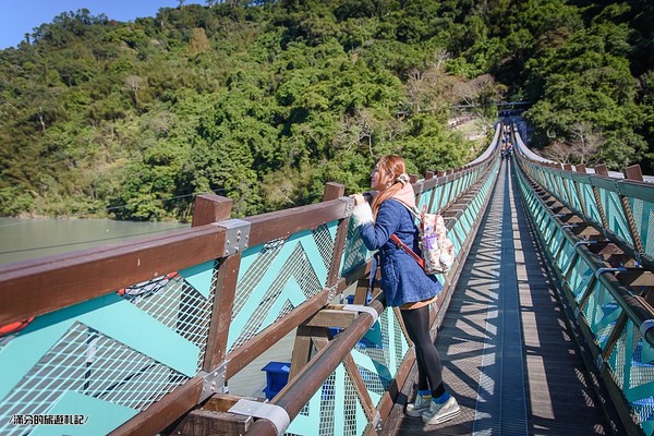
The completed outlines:
<svg viewBox="0 0 654 436">
<path fill-rule="evenodd" d="M 525 149 L 519 136 L 517 143 L 518 152 Z M 525 207 L 559 279 L 571 320 L 583 332 L 622 422 L 631 432 L 651 435 L 654 312 L 644 293 L 620 282 L 619 277 L 651 275 L 654 185 L 542 165 L 525 153 L 516 156 Z M 536 186 L 556 204 L 546 202 Z M 596 231 L 586 234 L 595 238 L 584 237 L 582 227 L 573 223 L 577 221 L 564 221 L 568 215 L 591 223 Z M 617 265 L 609 264 L 595 253 L 608 243 L 618 244 L 634 261 L 621 256 Z"/>
</svg>

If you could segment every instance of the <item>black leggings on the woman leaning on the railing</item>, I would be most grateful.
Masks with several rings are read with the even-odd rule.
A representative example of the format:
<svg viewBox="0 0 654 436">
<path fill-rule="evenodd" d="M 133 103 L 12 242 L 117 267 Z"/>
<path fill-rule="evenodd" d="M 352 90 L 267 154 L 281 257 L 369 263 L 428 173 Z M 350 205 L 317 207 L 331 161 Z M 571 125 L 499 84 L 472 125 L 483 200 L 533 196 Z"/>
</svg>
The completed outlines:
<svg viewBox="0 0 654 436">
<path fill-rule="evenodd" d="M 443 385 L 440 356 L 429 336 L 429 306 L 400 312 L 409 338 L 415 344 L 417 388 L 420 390 L 431 389 L 432 396 L 438 398 L 445 393 L 445 386 Z"/>
</svg>

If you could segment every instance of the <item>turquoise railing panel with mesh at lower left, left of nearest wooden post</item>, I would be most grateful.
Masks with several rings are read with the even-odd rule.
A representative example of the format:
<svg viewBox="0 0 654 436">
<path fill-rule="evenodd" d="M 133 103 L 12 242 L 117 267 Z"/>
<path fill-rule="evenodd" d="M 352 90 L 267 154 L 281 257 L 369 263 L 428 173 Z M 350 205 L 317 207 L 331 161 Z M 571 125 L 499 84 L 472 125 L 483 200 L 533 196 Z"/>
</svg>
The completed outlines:
<svg viewBox="0 0 654 436">
<path fill-rule="evenodd" d="M 38 316 L 0 339 L 0 434 L 108 434 L 195 376 L 215 278 L 214 262 L 203 263 Z M 35 425 L 49 416 L 85 422 Z"/>
</svg>

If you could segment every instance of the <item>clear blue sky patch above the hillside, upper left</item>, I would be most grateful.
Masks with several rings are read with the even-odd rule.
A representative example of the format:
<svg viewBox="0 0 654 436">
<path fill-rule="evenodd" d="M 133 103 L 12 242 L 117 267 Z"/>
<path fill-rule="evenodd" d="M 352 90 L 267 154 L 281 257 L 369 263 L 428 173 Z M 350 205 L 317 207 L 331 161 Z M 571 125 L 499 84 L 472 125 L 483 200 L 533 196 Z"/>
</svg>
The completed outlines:
<svg viewBox="0 0 654 436">
<path fill-rule="evenodd" d="M 184 4 L 204 1 L 184 1 Z M 16 47 L 34 27 L 51 23 L 62 12 L 86 8 L 92 15 L 101 13 L 110 20 L 134 21 L 155 16 L 160 8 L 177 8 L 178 0 L 0 0 L 0 49 Z"/>
</svg>

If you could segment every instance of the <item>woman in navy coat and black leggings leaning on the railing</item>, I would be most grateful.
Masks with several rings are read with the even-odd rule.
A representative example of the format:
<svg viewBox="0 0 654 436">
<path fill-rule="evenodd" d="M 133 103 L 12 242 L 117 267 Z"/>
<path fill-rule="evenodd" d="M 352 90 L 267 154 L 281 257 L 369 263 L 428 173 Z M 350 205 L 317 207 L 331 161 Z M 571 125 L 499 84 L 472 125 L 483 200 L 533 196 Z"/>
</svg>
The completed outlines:
<svg viewBox="0 0 654 436">
<path fill-rule="evenodd" d="M 386 302 L 400 307 L 409 338 L 415 344 L 419 390 L 415 402 L 407 404 L 407 414 L 422 416 L 426 424 L 439 424 L 460 412 L 457 400 L 445 389 L 443 365 L 429 336 L 429 303 L 443 287 L 390 240 L 395 233 L 420 253 L 417 227 L 408 209 L 415 207 L 415 196 L 402 158 L 392 155 L 380 158 L 371 174 L 371 187 L 378 191 L 372 207 L 363 195 L 353 195 L 353 219 L 365 246 L 379 251 Z"/>
</svg>

